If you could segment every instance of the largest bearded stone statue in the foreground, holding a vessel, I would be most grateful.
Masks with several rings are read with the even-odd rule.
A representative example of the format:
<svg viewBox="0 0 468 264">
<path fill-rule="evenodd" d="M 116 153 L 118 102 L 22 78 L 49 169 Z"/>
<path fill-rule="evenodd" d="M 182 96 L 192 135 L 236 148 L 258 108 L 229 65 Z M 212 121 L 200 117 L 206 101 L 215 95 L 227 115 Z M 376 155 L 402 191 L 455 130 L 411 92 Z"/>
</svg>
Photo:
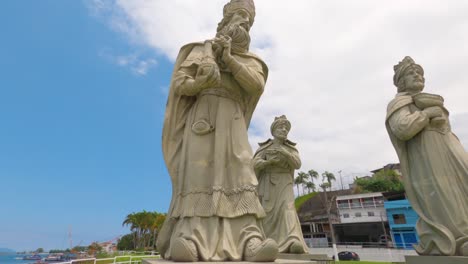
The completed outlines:
<svg viewBox="0 0 468 264">
<path fill-rule="evenodd" d="M 268 75 L 249 52 L 254 17 L 252 0 L 231 0 L 216 37 L 183 46 L 175 62 L 163 130 L 172 201 L 157 241 L 165 259 L 276 259 L 247 138 Z"/>
</svg>

